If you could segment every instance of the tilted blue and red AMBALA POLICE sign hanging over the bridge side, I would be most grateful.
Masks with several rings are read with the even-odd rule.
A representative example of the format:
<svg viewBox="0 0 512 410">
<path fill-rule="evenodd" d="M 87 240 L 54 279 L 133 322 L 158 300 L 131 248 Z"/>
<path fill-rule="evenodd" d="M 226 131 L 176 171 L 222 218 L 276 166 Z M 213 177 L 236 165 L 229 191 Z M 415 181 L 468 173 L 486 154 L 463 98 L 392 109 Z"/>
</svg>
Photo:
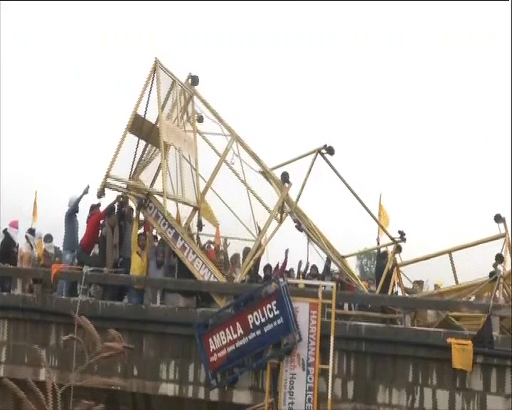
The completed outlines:
<svg viewBox="0 0 512 410">
<path fill-rule="evenodd" d="M 196 326 L 210 387 L 232 384 L 270 359 L 282 359 L 302 340 L 286 280 L 242 295 Z M 273 349 L 269 349 L 273 347 Z"/>
</svg>

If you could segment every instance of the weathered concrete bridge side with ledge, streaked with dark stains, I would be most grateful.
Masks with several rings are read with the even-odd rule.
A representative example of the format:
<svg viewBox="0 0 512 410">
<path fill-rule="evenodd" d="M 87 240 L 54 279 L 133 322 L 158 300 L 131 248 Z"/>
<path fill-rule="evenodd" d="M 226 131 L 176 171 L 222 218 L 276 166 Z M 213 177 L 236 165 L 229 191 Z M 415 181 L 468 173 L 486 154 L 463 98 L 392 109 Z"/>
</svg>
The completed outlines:
<svg viewBox="0 0 512 410">
<path fill-rule="evenodd" d="M 173 281 L 166 286 L 186 287 L 185 282 Z M 193 286 L 204 285 L 208 284 Z M 222 285 L 227 286 L 225 293 L 247 290 L 246 285 Z M 294 290 L 294 293 L 307 291 Z M 353 294 L 338 294 L 340 300 L 349 302 L 353 297 Z M 374 305 L 410 303 L 404 301 L 410 298 L 380 295 L 361 295 L 361 298 L 373 298 Z M 63 347 L 60 340 L 73 332 L 70 313 L 75 312 L 77 303 L 78 300 L 52 295 L 1 294 L 0 377 L 42 382 L 44 369 L 31 350 L 31 345 L 39 345 L 46 352 L 50 367 L 56 370 L 58 381 L 68 380 L 72 349 Z M 447 308 L 443 303 L 459 302 L 420 300 L 422 307 L 434 308 L 433 304 L 437 304 L 438 309 Z M 467 308 L 467 303 L 464 306 Z M 489 310 L 489 305 L 472 306 L 476 310 Z M 197 309 L 81 300 L 81 315 L 87 316 L 100 333 L 110 327 L 121 332 L 124 340 L 134 345 L 134 352 L 126 363 L 101 364 L 94 369 L 95 374 L 112 381 L 122 380 L 121 390 L 77 389 L 76 394 L 106 401 L 107 408 L 112 410 L 230 410 L 261 403 L 265 396 L 264 371 L 245 374 L 234 389 L 210 391 L 205 386 L 193 324 L 207 313 Z M 322 335 L 329 335 L 329 321 L 322 323 L 321 331 Z M 452 369 L 447 345 L 448 337 L 471 337 L 464 332 L 338 321 L 335 336 L 334 409 L 512 408 L 510 337 L 496 337 L 497 349 L 493 351 L 475 349 L 474 370 L 468 374 Z M 328 340 L 328 337 L 321 338 L 322 363 L 328 362 Z M 2 390 L 0 397 L 0 409 L 16 409 L 16 403 L 6 391 Z M 321 409 L 326 408 L 325 400 L 326 372 L 321 372 Z"/>
</svg>

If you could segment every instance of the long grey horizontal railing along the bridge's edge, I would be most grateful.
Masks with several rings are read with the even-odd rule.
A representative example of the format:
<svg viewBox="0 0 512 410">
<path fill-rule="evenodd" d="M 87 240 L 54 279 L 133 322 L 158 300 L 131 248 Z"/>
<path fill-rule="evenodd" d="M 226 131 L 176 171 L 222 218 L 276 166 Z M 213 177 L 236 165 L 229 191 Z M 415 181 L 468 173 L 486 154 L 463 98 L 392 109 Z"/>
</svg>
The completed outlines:
<svg viewBox="0 0 512 410">
<path fill-rule="evenodd" d="M 50 269 L 43 268 L 11 268 L 0 266 L 0 278 L 10 277 L 12 282 L 17 279 L 36 279 L 42 283 L 42 288 L 52 288 L 52 273 Z M 62 270 L 53 278 L 53 289 L 58 278 L 67 280 L 82 281 L 82 272 L 76 270 Z M 205 282 L 198 280 L 174 279 L 174 278 L 142 278 L 132 277 L 129 275 L 100 273 L 91 271 L 85 273 L 83 278 L 85 284 L 99 285 L 124 285 L 127 287 L 134 285 L 142 285 L 145 288 L 153 290 L 168 290 L 171 292 L 196 292 L 196 293 L 216 293 L 218 295 L 228 295 L 237 297 L 253 290 L 258 285 L 249 283 L 218 283 Z M 290 293 L 292 297 L 315 299 L 318 295 L 317 289 L 299 288 L 291 286 Z M 1 295 L 1 293 L 0 293 Z M 331 290 L 324 290 L 324 298 L 331 298 Z M 402 312 L 414 312 L 416 310 L 439 310 L 445 312 L 474 312 L 474 313 L 491 313 L 500 317 L 511 317 L 509 305 L 471 302 L 468 300 L 449 300 L 439 298 L 410 298 L 400 295 L 375 295 L 371 293 L 351 293 L 337 292 L 336 302 L 347 305 L 369 305 L 373 307 L 396 308 Z M 0 296 L 1 305 L 1 296 Z"/>
</svg>

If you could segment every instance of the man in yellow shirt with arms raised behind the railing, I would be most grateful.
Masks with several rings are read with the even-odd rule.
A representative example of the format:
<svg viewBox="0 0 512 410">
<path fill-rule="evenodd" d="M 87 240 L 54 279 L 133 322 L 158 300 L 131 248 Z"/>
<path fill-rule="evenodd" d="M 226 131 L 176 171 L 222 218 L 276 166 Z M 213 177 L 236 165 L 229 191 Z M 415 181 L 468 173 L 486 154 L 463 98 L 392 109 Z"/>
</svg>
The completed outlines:
<svg viewBox="0 0 512 410">
<path fill-rule="evenodd" d="M 130 275 L 146 276 L 147 273 L 147 250 L 146 250 L 146 231 L 139 233 L 140 208 L 137 209 L 132 228 L 132 264 L 130 266 Z M 149 239 L 151 241 L 151 238 Z M 135 305 L 144 303 L 144 286 L 134 285 L 128 290 L 128 302 Z"/>
</svg>

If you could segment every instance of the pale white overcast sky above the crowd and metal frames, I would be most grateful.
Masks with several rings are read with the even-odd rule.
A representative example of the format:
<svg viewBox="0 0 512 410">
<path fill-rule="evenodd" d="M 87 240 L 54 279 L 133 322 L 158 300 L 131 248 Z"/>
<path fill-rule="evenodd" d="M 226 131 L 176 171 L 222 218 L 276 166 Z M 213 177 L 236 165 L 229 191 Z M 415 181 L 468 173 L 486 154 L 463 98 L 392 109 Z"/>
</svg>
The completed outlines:
<svg viewBox="0 0 512 410">
<path fill-rule="evenodd" d="M 90 184 L 83 232 L 155 57 L 198 73 L 270 166 L 332 144 L 373 212 L 382 191 L 405 259 L 497 233 L 497 212 L 511 221 L 510 2 L 2 1 L 0 30 L 2 228 L 30 226 L 37 189 L 37 227 L 60 245 L 68 197 Z M 314 189 L 304 210 L 341 253 L 374 245 L 332 174 Z M 302 258 L 280 240 L 269 258 L 287 246 Z M 461 279 L 500 249 L 456 258 Z M 447 258 L 409 272 L 453 281 Z"/>
</svg>

